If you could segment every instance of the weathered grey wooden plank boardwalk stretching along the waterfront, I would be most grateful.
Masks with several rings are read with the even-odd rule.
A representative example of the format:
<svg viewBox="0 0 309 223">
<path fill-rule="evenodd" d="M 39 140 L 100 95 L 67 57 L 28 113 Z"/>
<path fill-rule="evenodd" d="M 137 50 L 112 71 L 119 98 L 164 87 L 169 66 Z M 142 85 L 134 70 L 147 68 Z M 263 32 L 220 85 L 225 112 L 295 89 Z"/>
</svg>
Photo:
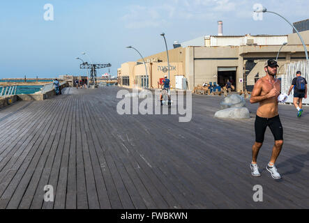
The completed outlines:
<svg viewBox="0 0 309 223">
<path fill-rule="evenodd" d="M 307 107 L 297 118 L 280 105 L 282 179 L 273 180 L 271 132 L 254 178 L 255 119 L 213 118 L 222 98 L 193 95 L 192 121 L 179 123 L 178 115 L 117 114 L 118 90 L 70 88 L 0 109 L 0 208 L 309 208 Z M 54 202 L 43 200 L 45 185 Z M 253 201 L 254 185 L 263 202 Z"/>
</svg>

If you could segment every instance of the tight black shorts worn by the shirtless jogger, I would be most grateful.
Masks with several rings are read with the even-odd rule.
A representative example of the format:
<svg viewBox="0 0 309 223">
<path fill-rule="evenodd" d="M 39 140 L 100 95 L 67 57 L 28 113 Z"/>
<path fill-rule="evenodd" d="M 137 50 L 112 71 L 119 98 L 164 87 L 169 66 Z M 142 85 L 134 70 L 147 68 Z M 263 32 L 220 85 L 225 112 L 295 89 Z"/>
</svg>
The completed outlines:
<svg viewBox="0 0 309 223">
<path fill-rule="evenodd" d="M 283 128 L 279 116 L 273 118 L 261 118 L 257 116 L 255 119 L 255 141 L 262 143 L 267 126 L 271 129 L 275 141 L 283 140 Z"/>
</svg>

